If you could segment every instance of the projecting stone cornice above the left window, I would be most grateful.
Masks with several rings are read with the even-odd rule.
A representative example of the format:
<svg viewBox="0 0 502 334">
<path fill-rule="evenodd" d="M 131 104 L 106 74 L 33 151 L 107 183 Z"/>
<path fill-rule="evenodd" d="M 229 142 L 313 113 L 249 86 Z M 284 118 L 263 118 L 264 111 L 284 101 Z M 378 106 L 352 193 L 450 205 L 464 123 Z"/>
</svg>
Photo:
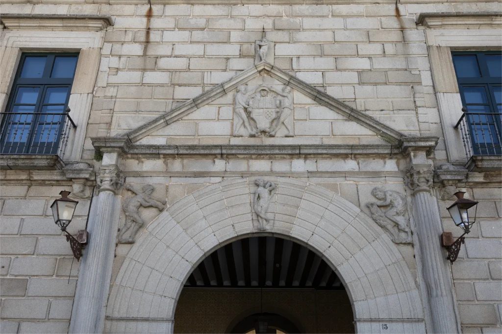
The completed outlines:
<svg viewBox="0 0 502 334">
<path fill-rule="evenodd" d="M 1 14 L 0 21 L 10 30 L 98 32 L 113 26 L 109 15 Z"/>
</svg>

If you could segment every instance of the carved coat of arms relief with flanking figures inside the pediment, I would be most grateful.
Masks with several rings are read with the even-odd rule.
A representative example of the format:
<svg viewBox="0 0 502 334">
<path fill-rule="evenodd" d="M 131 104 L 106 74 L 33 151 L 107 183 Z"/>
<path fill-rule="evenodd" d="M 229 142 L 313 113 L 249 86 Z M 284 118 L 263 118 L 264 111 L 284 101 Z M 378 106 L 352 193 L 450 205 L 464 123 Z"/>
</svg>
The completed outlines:
<svg viewBox="0 0 502 334">
<path fill-rule="evenodd" d="M 259 86 L 235 90 L 233 135 L 235 137 L 275 137 L 283 127 L 285 137 L 293 137 L 293 92 L 289 86 L 276 89 Z"/>
</svg>

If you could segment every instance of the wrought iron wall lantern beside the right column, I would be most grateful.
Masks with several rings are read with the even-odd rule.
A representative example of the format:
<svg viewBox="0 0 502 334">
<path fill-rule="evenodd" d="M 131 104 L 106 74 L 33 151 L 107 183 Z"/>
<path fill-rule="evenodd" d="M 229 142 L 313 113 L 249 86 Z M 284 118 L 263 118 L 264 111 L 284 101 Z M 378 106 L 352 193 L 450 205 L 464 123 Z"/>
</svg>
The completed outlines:
<svg viewBox="0 0 502 334">
<path fill-rule="evenodd" d="M 457 191 L 454 194 L 457 200 L 447 208 L 455 225 L 462 228 L 464 233 L 455 241 L 453 241 L 453 233 L 443 232 L 441 234 L 441 244 L 448 249 L 447 259 L 450 260 L 451 263 L 455 262 L 460 252 L 460 247 L 462 243 L 465 242 L 464 235 L 470 232 L 472 224 L 476 222 L 478 202 L 464 198 L 464 194 L 464 191 Z M 475 208 L 474 216 L 469 217 L 469 209 L 472 207 Z"/>
</svg>

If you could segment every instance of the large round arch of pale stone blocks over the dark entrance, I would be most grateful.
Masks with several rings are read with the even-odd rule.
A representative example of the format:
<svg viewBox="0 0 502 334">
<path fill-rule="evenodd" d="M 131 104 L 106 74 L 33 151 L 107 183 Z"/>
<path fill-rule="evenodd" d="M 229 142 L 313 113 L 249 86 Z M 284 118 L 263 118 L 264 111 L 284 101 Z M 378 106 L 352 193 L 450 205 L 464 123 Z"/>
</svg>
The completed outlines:
<svg viewBox="0 0 502 334">
<path fill-rule="evenodd" d="M 223 181 L 185 196 L 139 235 L 112 282 L 106 334 L 172 333 L 185 280 L 213 250 L 252 235 L 289 238 L 336 271 L 357 333 L 425 333 L 420 294 L 401 253 L 382 228 L 340 195 L 297 179 L 268 178 L 271 228 L 259 232 L 254 178 Z"/>
</svg>

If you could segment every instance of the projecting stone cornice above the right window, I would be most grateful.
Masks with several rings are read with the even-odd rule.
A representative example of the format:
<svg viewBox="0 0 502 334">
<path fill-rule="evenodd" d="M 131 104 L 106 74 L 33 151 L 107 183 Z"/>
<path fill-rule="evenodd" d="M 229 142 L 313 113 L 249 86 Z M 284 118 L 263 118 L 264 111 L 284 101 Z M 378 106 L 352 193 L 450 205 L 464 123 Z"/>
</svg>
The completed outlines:
<svg viewBox="0 0 502 334">
<path fill-rule="evenodd" d="M 421 13 L 417 25 L 428 29 L 500 29 L 502 12 Z"/>
</svg>

